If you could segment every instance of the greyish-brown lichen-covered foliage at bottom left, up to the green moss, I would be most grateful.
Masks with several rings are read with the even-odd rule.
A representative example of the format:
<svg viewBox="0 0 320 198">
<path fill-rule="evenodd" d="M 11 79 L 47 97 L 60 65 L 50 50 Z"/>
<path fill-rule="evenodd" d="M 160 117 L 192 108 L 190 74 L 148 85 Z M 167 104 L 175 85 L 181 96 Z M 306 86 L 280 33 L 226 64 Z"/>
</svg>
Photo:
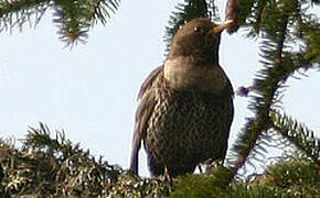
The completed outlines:
<svg viewBox="0 0 320 198">
<path fill-rule="evenodd" d="M 0 140 L 0 197 L 140 197 L 166 195 L 168 185 L 141 179 L 94 157 L 40 123 L 30 128 L 21 148 Z"/>
</svg>

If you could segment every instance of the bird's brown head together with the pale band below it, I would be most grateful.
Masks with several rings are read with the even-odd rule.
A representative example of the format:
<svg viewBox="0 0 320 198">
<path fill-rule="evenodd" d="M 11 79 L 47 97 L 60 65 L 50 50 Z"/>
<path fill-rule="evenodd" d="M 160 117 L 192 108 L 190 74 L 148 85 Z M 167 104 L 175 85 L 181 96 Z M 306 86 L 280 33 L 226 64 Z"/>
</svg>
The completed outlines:
<svg viewBox="0 0 320 198">
<path fill-rule="evenodd" d="M 195 19 L 177 32 L 163 69 L 172 88 L 224 90 L 228 81 L 218 66 L 218 44 L 221 32 L 230 24 L 231 21 L 216 25 L 207 19 Z"/>
</svg>

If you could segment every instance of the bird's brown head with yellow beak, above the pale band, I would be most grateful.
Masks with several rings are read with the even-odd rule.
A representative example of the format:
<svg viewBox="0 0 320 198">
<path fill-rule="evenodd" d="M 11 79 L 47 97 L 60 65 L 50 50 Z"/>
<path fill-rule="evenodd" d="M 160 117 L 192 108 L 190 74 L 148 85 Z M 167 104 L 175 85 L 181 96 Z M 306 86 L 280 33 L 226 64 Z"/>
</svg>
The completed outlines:
<svg viewBox="0 0 320 198">
<path fill-rule="evenodd" d="M 226 21 L 217 25 L 204 18 L 190 21 L 175 33 L 168 59 L 185 56 L 196 62 L 216 64 L 221 32 L 231 23 Z"/>
</svg>

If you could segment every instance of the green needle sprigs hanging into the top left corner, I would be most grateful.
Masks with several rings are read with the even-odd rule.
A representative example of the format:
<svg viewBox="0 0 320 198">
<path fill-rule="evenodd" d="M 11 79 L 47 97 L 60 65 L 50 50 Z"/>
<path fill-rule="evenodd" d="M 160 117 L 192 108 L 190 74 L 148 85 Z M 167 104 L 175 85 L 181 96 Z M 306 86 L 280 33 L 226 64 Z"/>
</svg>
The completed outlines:
<svg viewBox="0 0 320 198">
<path fill-rule="evenodd" d="M 97 22 L 106 24 L 116 12 L 119 0 L 0 0 L 0 32 L 12 31 L 29 23 L 35 26 L 46 10 L 53 10 L 53 22 L 66 45 L 85 42 Z"/>
</svg>

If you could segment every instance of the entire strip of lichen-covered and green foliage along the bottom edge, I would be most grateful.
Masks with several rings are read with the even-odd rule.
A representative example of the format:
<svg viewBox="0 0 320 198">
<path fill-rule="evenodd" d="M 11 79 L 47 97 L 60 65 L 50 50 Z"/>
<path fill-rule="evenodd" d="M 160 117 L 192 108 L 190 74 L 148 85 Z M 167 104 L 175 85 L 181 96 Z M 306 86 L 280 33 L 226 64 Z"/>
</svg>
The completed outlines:
<svg viewBox="0 0 320 198">
<path fill-rule="evenodd" d="M 0 197 L 319 197 L 319 167 L 308 157 L 271 165 L 248 182 L 230 178 L 232 169 L 212 165 L 206 174 L 140 178 L 40 123 L 17 148 L 0 140 Z M 209 164 L 210 165 L 210 164 Z"/>
</svg>

